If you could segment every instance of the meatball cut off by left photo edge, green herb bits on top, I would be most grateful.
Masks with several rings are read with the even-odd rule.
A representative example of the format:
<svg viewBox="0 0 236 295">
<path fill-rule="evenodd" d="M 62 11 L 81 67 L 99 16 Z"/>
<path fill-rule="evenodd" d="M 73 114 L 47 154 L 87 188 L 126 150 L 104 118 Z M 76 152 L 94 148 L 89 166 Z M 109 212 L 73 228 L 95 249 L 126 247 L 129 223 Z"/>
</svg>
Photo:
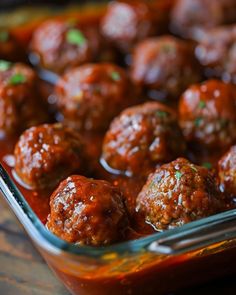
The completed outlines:
<svg viewBox="0 0 236 295">
<path fill-rule="evenodd" d="M 0 61 L 0 137 L 16 135 L 47 120 L 37 82 L 30 67 Z"/>
</svg>

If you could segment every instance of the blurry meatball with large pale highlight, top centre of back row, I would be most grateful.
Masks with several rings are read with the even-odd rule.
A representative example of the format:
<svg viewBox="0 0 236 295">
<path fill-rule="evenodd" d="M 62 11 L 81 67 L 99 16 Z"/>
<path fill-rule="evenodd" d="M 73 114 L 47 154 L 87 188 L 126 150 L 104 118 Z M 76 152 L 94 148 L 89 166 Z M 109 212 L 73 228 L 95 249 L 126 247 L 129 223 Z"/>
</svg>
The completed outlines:
<svg viewBox="0 0 236 295">
<path fill-rule="evenodd" d="M 160 33 L 168 20 L 170 1 L 113 1 L 101 22 L 103 35 L 123 52 L 148 36 Z"/>
</svg>

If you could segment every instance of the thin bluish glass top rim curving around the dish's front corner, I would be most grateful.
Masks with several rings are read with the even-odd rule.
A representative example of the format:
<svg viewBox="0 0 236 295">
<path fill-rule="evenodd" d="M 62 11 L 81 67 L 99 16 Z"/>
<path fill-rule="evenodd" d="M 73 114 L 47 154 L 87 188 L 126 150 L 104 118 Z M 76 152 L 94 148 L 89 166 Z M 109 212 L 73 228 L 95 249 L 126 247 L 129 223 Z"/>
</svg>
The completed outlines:
<svg viewBox="0 0 236 295">
<path fill-rule="evenodd" d="M 84 245 L 75 245 L 72 243 L 68 243 L 63 241 L 62 239 L 56 237 L 49 230 L 46 229 L 45 225 L 40 221 L 37 215 L 34 213 L 32 208 L 27 203 L 23 194 L 19 191 L 11 177 L 5 171 L 3 166 L 0 164 L 0 191 L 5 200 L 11 205 L 13 212 L 16 214 L 13 204 L 12 198 L 17 202 L 17 209 L 21 209 L 23 211 L 25 217 L 30 221 L 31 225 L 33 225 L 34 229 L 37 231 L 37 234 L 43 240 L 46 240 L 54 249 L 59 250 L 60 252 L 64 252 L 66 254 L 72 254 L 76 256 L 89 256 L 91 258 L 102 258 L 106 254 L 115 253 L 117 255 L 128 255 L 135 254 L 140 252 L 143 249 L 148 249 L 150 251 L 150 245 L 157 241 L 168 239 L 174 236 L 178 236 L 179 238 L 183 237 L 186 232 L 194 231 L 199 227 L 203 227 L 207 229 L 207 226 L 212 222 L 217 222 L 222 219 L 226 219 L 227 217 L 233 217 L 233 221 L 236 221 L 236 209 L 232 209 L 229 211 L 224 211 L 222 213 L 218 213 L 212 215 L 210 217 L 202 218 L 197 221 L 190 222 L 181 227 L 169 229 L 163 232 L 157 232 L 151 234 L 149 236 L 141 237 L 136 240 L 124 241 L 121 243 L 105 246 L 105 247 L 91 247 Z M 22 216 L 23 217 L 23 216 Z M 18 218 L 19 219 L 19 218 Z M 27 229 L 26 229 L 27 230 Z M 234 234 L 233 236 L 235 236 Z M 226 240 L 226 239 L 225 239 Z M 214 244 L 214 240 L 212 240 L 212 244 Z M 199 243 L 199 248 L 201 244 Z M 191 250 L 191 249 L 189 249 Z M 161 253 L 163 255 L 163 253 Z"/>
</svg>

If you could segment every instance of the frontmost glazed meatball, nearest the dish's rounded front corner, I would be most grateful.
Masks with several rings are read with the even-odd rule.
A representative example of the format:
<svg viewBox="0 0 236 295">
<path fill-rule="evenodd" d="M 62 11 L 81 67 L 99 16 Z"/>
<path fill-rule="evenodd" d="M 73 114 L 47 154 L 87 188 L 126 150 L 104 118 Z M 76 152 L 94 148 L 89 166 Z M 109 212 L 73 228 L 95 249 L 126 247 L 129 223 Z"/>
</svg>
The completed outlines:
<svg viewBox="0 0 236 295">
<path fill-rule="evenodd" d="M 71 176 L 50 200 L 47 228 L 67 242 L 105 246 L 123 238 L 128 225 L 120 191 L 107 181 Z"/>
</svg>

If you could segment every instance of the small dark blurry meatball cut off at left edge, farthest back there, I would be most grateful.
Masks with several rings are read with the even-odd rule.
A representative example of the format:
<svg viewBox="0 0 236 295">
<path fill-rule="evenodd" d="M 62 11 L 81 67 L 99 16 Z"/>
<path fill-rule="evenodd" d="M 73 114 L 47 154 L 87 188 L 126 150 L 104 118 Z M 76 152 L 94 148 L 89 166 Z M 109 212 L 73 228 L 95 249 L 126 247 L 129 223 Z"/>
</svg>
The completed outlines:
<svg viewBox="0 0 236 295">
<path fill-rule="evenodd" d="M 0 59 L 25 61 L 25 53 L 11 32 L 0 29 Z"/>
</svg>

